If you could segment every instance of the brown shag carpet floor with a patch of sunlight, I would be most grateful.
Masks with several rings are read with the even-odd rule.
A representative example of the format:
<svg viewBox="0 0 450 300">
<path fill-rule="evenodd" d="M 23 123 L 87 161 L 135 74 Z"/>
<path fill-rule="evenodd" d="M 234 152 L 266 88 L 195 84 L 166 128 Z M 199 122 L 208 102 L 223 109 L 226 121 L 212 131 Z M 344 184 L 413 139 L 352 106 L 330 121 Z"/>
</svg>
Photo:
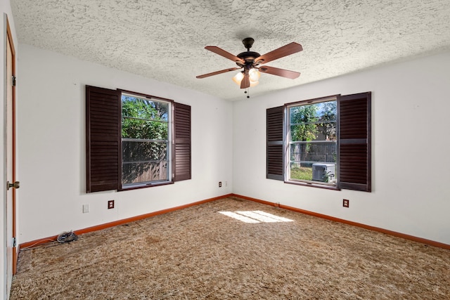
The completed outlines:
<svg viewBox="0 0 450 300">
<path fill-rule="evenodd" d="M 23 249 L 15 299 L 450 299 L 450 251 L 229 197 Z"/>
</svg>

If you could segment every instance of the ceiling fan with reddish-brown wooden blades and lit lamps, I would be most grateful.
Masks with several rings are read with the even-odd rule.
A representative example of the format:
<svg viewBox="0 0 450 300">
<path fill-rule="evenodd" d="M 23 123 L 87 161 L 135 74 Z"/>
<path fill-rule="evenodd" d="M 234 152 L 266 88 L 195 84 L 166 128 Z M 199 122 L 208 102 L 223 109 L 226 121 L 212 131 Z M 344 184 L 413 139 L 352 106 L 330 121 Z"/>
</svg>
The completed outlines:
<svg viewBox="0 0 450 300">
<path fill-rule="evenodd" d="M 250 48 L 252 48 L 254 42 L 255 40 L 251 37 L 243 39 L 242 43 L 244 44 L 245 48 L 247 48 L 247 51 L 239 53 L 237 56 L 234 56 L 233 54 L 217 46 L 206 46 L 206 50 L 219 54 L 219 56 L 223 56 L 224 58 L 228 58 L 229 60 L 233 60 L 233 62 L 235 62 L 238 67 L 231 67 L 225 70 L 198 75 L 197 78 L 205 78 L 217 74 L 243 69 L 242 72 L 239 72 L 235 77 L 233 77 L 233 81 L 235 81 L 236 84 L 240 85 L 240 89 L 248 89 L 250 86 L 255 86 L 258 84 L 258 79 L 260 76 L 259 72 L 290 79 L 295 79 L 300 76 L 299 72 L 279 69 L 278 67 L 259 67 L 259 65 L 263 65 L 265 63 L 271 62 L 272 60 L 276 60 L 278 58 L 283 58 L 285 56 L 290 56 L 293 53 L 300 52 L 303 50 L 302 45 L 292 42 L 264 55 L 259 55 L 259 53 L 257 52 L 250 51 Z"/>
</svg>

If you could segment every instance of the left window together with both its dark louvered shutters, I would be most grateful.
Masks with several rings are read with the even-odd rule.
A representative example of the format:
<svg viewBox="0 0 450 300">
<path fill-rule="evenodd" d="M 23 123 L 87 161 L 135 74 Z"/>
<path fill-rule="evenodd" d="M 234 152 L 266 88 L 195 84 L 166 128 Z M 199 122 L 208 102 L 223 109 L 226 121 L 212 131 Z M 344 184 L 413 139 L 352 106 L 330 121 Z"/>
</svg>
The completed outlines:
<svg viewBox="0 0 450 300">
<path fill-rule="evenodd" d="M 86 86 L 86 191 L 191 179 L 191 107 Z"/>
</svg>

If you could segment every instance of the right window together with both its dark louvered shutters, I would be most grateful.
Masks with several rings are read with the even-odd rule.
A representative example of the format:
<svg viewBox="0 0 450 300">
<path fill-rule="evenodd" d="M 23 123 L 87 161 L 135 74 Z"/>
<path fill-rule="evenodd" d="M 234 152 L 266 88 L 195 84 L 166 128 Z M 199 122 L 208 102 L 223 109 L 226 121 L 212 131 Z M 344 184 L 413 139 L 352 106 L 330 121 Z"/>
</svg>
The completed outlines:
<svg viewBox="0 0 450 300">
<path fill-rule="evenodd" d="M 371 93 L 269 108 L 266 178 L 371 191 Z"/>
</svg>

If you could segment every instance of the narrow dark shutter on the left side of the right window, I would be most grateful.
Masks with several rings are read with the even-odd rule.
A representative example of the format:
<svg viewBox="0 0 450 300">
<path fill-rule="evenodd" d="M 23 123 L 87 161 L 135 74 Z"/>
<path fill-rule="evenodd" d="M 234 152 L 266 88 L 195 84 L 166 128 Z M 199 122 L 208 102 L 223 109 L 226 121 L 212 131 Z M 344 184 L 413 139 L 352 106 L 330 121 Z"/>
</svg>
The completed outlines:
<svg viewBox="0 0 450 300">
<path fill-rule="evenodd" d="M 284 107 L 266 110 L 266 178 L 284 180 L 283 176 Z"/>
</svg>

